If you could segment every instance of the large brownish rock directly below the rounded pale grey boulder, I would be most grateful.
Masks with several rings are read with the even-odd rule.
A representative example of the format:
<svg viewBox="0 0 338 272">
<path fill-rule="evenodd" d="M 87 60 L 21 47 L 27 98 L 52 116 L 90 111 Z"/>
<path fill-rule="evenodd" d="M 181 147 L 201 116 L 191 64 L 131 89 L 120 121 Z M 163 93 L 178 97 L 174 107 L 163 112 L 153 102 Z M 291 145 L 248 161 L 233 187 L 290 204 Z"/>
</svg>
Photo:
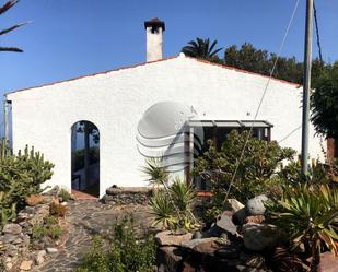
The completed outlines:
<svg viewBox="0 0 338 272">
<path fill-rule="evenodd" d="M 242 228 L 244 245 L 253 251 L 261 251 L 277 246 L 279 230 L 273 225 L 248 223 Z"/>
</svg>

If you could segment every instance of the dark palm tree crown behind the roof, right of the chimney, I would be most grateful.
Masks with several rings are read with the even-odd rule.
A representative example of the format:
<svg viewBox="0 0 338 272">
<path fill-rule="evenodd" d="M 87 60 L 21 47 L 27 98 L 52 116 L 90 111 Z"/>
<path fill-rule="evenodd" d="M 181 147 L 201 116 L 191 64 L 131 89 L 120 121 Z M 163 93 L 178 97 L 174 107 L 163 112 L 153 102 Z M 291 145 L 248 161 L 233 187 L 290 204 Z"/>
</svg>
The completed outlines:
<svg viewBox="0 0 338 272">
<path fill-rule="evenodd" d="M 215 60 L 219 59 L 217 54 L 223 49 L 214 49 L 215 45 L 217 40 L 213 40 L 213 43 L 210 45 L 209 38 L 196 38 L 196 40 L 190 40 L 187 46 L 183 47 L 182 52 L 194 58 Z"/>
</svg>

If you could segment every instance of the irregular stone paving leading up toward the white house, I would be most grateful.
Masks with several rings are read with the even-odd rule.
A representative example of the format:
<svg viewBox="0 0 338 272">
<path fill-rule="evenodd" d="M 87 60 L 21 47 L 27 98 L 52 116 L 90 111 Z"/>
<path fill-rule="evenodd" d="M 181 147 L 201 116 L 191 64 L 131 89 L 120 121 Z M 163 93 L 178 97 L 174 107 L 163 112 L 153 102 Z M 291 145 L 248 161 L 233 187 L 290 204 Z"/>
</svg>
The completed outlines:
<svg viewBox="0 0 338 272">
<path fill-rule="evenodd" d="M 132 214 L 138 229 L 151 230 L 150 208 L 144 205 L 113 206 L 98 201 L 77 201 L 69 204 L 66 239 L 59 250 L 34 272 L 72 271 L 90 247 L 92 237 L 109 239 L 114 225 L 126 214 Z"/>
</svg>

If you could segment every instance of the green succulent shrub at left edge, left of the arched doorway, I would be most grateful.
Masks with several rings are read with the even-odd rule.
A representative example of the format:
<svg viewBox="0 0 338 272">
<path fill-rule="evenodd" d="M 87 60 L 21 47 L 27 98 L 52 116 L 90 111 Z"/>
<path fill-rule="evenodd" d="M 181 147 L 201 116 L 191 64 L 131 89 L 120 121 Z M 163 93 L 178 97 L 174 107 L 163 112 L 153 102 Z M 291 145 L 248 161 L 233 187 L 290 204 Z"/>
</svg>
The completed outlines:
<svg viewBox="0 0 338 272">
<path fill-rule="evenodd" d="M 42 192 L 40 185 L 51 178 L 54 165 L 44 155 L 26 146 L 12 154 L 5 141 L 0 143 L 0 210 L 1 223 L 15 218 L 25 199 Z"/>
</svg>

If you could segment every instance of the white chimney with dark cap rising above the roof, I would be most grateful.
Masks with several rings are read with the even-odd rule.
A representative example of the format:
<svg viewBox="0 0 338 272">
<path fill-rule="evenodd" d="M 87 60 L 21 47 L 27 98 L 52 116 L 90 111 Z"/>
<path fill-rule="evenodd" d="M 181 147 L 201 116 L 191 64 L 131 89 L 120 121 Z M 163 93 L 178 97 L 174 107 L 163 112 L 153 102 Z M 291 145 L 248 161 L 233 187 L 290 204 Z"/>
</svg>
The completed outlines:
<svg viewBox="0 0 338 272">
<path fill-rule="evenodd" d="M 147 31 L 147 62 L 163 58 L 163 32 L 165 24 L 158 17 L 144 22 Z"/>
</svg>

